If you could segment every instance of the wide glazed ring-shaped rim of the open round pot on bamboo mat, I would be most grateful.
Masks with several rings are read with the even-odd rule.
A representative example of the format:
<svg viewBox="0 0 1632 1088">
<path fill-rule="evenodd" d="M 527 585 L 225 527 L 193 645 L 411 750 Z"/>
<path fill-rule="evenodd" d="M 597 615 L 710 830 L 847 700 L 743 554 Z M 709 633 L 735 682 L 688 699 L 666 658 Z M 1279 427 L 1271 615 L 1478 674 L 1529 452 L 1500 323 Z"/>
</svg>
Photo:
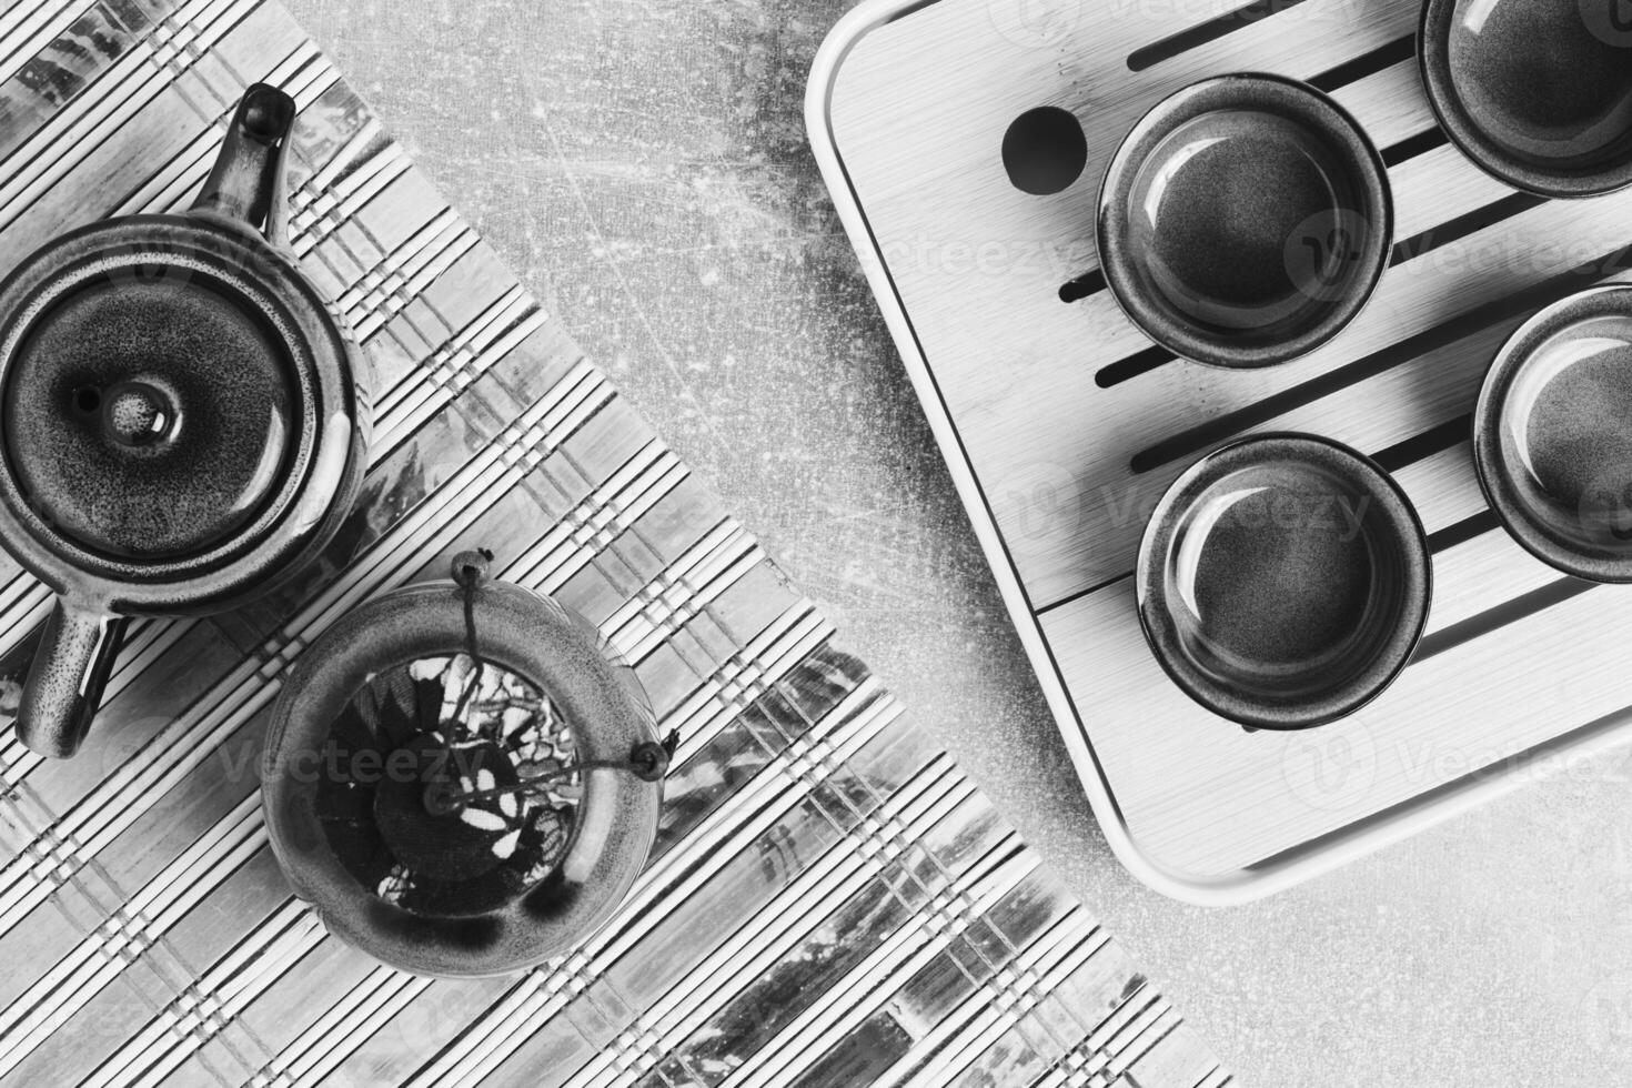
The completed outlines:
<svg viewBox="0 0 1632 1088">
<path fill-rule="evenodd" d="M 623 759 L 656 739 L 633 674 L 609 661 L 596 630 L 532 590 L 488 581 L 477 589 L 480 652 L 537 685 L 573 723 L 578 759 Z M 330 731 L 369 677 L 465 644 L 463 590 L 452 581 L 397 590 L 330 628 L 289 677 L 273 711 L 263 806 L 273 850 L 297 894 L 328 930 L 403 971 L 499 975 L 566 951 L 623 900 L 658 834 L 661 783 L 596 768 L 584 773 L 578 822 L 558 868 L 524 894 L 465 917 L 424 917 L 382 900 L 336 856 L 318 793 Z"/>
</svg>

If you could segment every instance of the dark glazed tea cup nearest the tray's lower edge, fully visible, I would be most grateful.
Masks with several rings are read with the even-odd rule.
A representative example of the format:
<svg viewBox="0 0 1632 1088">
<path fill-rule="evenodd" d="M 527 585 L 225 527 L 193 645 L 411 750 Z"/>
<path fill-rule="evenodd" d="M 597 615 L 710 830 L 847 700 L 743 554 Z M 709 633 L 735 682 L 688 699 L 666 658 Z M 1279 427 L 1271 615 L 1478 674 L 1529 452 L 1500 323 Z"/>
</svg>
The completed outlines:
<svg viewBox="0 0 1632 1088">
<path fill-rule="evenodd" d="M 1167 674 L 1244 726 L 1302 729 L 1359 710 L 1428 618 L 1428 543 L 1389 476 L 1302 434 L 1234 442 L 1157 504 L 1134 574 Z"/>
</svg>

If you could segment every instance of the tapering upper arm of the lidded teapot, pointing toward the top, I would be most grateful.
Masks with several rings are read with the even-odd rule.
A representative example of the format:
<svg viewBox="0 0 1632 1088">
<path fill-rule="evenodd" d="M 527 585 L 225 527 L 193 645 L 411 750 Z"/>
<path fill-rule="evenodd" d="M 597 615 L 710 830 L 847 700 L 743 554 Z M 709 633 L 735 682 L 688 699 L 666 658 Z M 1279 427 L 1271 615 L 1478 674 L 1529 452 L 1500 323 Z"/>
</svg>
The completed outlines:
<svg viewBox="0 0 1632 1088">
<path fill-rule="evenodd" d="M 256 83 L 245 91 L 193 210 L 248 223 L 274 246 L 287 245 L 284 158 L 294 124 L 294 98 L 269 83 Z"/>
</svg>

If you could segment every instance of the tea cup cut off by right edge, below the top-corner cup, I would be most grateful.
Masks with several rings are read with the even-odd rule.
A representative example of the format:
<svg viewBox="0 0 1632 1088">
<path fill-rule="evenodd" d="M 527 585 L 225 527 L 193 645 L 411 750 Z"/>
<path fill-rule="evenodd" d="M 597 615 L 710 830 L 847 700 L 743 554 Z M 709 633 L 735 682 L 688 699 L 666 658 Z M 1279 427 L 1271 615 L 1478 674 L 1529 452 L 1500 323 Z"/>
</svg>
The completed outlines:
<svg viewBox="0 0 1632 1088">
<path fill-rule="evenodd" d="M 1572 295 L 1508 339 L 1474 409 L 1474 463 L 1529 553 L 1632 582 L 1632 285 Z"/>
</svg>

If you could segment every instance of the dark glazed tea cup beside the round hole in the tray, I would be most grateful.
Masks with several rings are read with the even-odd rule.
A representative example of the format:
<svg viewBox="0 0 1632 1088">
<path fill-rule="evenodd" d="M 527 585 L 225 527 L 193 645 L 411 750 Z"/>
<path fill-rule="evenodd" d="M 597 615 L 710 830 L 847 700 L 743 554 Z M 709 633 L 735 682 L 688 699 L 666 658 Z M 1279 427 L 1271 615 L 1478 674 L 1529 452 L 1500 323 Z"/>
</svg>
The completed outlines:
<svg viewBox="0 0 1632 1088">
<path fill-rule="evenodd" d="M 1173 354 L 1286 362 L 1361 312 L 1387 264 L 1387 171 L 1312 86 L 1226 75 L 1164 100 L 1128 134 L 1098 196 L 1116 302 Z"/>
</svg>

